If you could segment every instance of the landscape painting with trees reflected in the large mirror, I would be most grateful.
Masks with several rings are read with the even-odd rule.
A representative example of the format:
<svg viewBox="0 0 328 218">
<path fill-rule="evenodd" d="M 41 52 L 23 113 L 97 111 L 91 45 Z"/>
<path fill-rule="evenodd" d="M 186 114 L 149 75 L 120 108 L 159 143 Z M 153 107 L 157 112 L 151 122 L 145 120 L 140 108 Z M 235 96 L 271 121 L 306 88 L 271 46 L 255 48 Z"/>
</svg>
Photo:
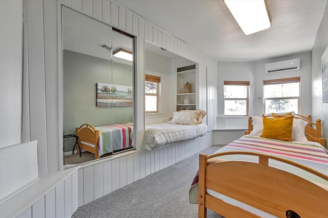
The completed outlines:
<svg viewBox="0 0 328 218">
<path fill-rule="evenodd" d="M 97 107 L 133 106 L 132 86 L 97 83 Z"/>
</svg>

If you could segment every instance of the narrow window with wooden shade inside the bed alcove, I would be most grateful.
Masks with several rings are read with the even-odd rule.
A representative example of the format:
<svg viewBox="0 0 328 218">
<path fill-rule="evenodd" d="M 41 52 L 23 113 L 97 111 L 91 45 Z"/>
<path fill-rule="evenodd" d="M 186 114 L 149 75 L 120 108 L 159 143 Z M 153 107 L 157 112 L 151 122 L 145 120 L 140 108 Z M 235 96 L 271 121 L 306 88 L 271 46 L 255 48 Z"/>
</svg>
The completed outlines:
<svg viewBox="0 0 328 218">
<path fill-rule="evenodd" d="M 146 113 L 158 113 L 160 77 L 147 75 L 145 78 Z"/>
</svg>

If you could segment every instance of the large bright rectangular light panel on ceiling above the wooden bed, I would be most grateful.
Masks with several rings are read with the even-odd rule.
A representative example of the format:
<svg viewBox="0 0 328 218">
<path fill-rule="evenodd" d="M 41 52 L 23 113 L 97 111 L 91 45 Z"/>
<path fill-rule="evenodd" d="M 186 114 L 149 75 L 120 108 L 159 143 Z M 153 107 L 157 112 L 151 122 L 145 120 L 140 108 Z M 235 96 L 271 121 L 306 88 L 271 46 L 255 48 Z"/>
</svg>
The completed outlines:
<svg viewBox="0 0 328 218">
<path fill-rule="evenodd" d="M 223 0 L 245 35 L 271 27 L 264 0 Z"/>
</svg>

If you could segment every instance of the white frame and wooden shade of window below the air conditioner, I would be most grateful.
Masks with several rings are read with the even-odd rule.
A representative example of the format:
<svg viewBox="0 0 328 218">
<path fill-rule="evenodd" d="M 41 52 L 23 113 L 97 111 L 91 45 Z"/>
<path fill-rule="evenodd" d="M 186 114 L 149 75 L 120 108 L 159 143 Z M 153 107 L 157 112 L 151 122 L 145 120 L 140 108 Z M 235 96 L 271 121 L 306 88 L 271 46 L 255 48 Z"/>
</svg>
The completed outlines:
<svg viewBox="0 0 328 218">
<path fill-rule="evenodd" d="M 301 93 L 301 78 L 300 77 L 291 77 L 291 78 L 282 78 L 282 79 L 275 79 L 275 80 L 263 80 L 263 111 L 264 114 L 267 113 L 267 111 L 265 111 L 266 105 L 265 105 L 265 100 L 297 100 L 297 110 L 298 113 L 300 111 L 300 93 Z M 286 84 L 286 83 L 298 83 L 298 88 L 299 88 L 299 94 L 298 96 L 290 96 L 290 97 L 275 97 L 275 98 L 265 98 L 264 97 L 264 86 L 265 85 L 277 85 L 277 84 Z"/>
</svg>

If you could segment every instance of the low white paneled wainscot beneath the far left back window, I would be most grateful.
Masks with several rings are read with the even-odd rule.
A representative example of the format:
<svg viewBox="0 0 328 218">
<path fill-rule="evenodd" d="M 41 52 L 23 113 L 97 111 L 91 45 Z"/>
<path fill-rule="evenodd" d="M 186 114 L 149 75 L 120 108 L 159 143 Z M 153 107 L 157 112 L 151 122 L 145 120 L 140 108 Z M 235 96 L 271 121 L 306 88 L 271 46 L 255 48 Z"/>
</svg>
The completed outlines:
<svg viewBox="0 0 328 218">
<path fill-rule="evenodd" d="M 213 142 L 214 144 L 228 144 L 241 136 L 245 135 L 245 130 L 214 130 L 213 131 Z"/>
</svg>

